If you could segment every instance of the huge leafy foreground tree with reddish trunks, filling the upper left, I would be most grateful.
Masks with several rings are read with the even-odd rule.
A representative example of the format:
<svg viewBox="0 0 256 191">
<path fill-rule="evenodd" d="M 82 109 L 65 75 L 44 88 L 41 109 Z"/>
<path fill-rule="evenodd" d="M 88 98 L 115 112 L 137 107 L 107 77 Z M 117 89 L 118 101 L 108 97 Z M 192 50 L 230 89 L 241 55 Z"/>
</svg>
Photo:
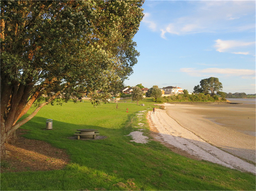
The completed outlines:
<svg viewBox="0 0 256 191">
<path fill-rule="evenodd" d="M 15 130 L 53 100 L 106 102 L 137 63 L 138 1 L 1 1 L 1 157 Z M 18 121 L 32 104 L 35 110 Z"/>
</svg>

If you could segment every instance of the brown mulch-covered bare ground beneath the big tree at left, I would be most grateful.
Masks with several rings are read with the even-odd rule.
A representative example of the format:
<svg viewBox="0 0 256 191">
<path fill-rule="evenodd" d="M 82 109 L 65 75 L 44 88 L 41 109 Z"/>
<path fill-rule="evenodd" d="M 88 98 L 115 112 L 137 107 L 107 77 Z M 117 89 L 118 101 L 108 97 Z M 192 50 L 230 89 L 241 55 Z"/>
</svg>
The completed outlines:
<svg viewBox="0 0 256 191">
<path fill-rule="evenodd" d="M 7 158 L 1 159 L 1 172 L 59 170 L 69 163 L 65 150 L 44 141 L 22 137 L 26 131 L 18 129 L 17 143 L 6 144 Z"/>
</svg>

